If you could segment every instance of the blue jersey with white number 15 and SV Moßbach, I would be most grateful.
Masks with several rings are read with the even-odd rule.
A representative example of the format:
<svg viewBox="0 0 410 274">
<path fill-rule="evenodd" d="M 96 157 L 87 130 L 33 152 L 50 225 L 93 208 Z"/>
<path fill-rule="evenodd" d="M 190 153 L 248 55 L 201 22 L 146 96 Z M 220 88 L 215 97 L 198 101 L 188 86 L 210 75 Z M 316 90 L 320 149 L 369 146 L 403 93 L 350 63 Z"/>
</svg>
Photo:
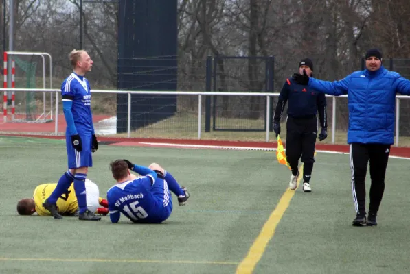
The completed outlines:
<svg viewBox="0 0 410 274">
<path fill-rule="evenodd" d="M 164 179 L 150 175 L 115 184 L 107 192 L 110 219 L 119 221 L 120 212 L 134 223 L 161 223 L 172 212 L 172 199 Z"/>
</svg>

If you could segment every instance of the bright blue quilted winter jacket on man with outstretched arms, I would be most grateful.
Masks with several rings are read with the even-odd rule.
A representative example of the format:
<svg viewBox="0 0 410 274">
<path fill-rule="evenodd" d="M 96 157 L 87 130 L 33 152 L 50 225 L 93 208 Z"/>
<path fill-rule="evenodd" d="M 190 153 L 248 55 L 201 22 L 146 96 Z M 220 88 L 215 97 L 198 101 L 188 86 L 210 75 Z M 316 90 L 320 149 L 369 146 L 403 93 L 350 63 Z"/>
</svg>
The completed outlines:
<svg viewBox="0 0 410 274">
<path fill-rule="evenodd" d="M 410 80 L 381 66 L 334 82 L 311 77 L 308 86 L 328 95 L 348 95 L 348 144 L 394 143 L 396 93 L 410 95 Z"/>
</svg>

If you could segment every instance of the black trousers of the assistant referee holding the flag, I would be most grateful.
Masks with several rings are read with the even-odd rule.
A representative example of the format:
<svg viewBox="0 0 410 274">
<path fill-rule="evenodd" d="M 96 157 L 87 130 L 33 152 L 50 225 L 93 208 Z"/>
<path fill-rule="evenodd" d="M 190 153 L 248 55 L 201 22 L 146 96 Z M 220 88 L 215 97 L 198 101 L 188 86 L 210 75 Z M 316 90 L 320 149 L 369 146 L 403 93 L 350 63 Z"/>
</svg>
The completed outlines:
<svg viewBox="0 0 410 274">
<path fill-rule="evenodd" d="M 317 137 L 317 118 L 308 116 L 295 118 L 288 116 L 286 121 L 286 160 L 292 174 L 297 175 L 299 158 L 304 163 L 304 182 L 310 182 Z"/>
</svg>

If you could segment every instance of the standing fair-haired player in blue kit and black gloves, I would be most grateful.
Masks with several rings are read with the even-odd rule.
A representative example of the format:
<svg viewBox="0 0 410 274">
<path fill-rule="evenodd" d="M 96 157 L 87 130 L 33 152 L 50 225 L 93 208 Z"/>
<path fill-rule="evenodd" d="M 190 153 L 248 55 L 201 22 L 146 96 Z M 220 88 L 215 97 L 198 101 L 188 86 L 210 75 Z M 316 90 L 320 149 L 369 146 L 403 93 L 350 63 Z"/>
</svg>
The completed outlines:
<svg viewBox="0 0 410 274">
<path fill-rule="evenodd" d="M 91 114 L 91 89 L 84 77 L 85 73 L 91 71 L 93 60 L 84 50 L 71 51 L 69 60 L 73 73 L 61 85 L 62 108 L 67 122 L 65 139 L 69 170 L 60 177 L 56 189 L 45 199 L 43 207 L 49 210 L 55 219 L 62 219 L 56 201 L 68 190 L 71 182 L 74 182 L 79 208 L 78 219 L 99 221 L 101 217 L 95 216 L 87 208 L 85 190 L 88 168 L 93 166 L 91 153 L 98 149 Z"/>
</svg>

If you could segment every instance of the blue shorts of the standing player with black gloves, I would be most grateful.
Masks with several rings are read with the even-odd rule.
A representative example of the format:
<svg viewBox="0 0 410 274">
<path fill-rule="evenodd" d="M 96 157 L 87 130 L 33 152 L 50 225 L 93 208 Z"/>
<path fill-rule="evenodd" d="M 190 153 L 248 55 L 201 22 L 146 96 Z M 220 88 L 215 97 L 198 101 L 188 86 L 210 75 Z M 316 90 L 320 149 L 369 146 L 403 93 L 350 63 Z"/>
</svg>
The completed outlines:
<svg viewBox="0 0 410 274">
<path fill-rule="evenodd" d="M 65 134 L 65 145 L 67 147 L 67 158 L 69 169 L 78 169 L 80 167 L 93 166 L 93 157 L 91 155 L 91 145 L 93 137 L 91 133 L 79 133 L 82 144 L 82 151 L 78 152 L 71 143 L 71 135 Z"/>
</svg>

